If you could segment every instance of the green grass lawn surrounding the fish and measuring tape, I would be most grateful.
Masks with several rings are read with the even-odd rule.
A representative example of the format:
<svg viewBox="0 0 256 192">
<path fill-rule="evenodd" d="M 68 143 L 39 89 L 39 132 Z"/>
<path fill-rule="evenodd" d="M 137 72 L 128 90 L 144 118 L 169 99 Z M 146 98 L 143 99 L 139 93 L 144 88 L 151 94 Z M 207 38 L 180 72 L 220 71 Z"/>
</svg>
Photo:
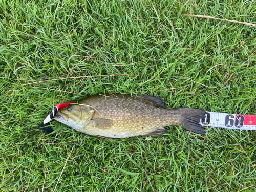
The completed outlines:
<svg viewBox="0 0 256 192">
<path fill-rule="evenodd" d="M 256 191 L 255 131 L 111 141 L 36 129 L 55 104 L 99 93 L 256 114 L 256 28 L 182 14 L 256 24 L 249 0 L 1 1 L 2 191 Z"/>
</svg>

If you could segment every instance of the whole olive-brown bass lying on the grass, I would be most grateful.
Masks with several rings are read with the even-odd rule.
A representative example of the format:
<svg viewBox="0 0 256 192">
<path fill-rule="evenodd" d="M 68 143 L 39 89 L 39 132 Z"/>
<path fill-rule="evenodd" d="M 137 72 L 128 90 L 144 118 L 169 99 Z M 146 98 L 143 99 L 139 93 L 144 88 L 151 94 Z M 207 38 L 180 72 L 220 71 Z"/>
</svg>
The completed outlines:
<svg viewBox="0 0 256 192">
<path fill-rule="evenodd" d="M 151 95 L 106 94 L 79 100 L 59 110 L 55 120 L 74 130 L 106 139 L 161 136 L 166 126 L 205 134 L 200 119 L 206 112 L 196 108 L 165 108 Z"/>
</svg>

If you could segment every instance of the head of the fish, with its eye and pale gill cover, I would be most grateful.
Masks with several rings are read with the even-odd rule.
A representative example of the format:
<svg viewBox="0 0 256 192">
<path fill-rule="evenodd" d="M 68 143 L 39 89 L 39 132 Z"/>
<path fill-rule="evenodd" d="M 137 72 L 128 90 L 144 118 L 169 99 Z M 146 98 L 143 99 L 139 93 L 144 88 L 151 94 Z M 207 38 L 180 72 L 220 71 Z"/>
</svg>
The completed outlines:
<svg viewBox="0 0 256 192">
<path fill-rule="evenodd" d="M 60 109 L 54 119 L 79 130 L 89 123 L 94 112 L 94 109 L 89 105 L 70 104 Z"/>
</svg>

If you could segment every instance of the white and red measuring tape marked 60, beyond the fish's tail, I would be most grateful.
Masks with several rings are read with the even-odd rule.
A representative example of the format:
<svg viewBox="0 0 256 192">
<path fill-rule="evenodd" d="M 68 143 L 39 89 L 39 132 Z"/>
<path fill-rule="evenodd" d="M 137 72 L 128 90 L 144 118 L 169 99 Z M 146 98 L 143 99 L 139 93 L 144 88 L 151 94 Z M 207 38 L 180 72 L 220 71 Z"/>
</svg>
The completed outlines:
<svg viewBox="0 0 256 192">
<path fill-rule="evenodd" d="M 256 115 L 206 112 L 200 121 L 202 126 L 214 126 L 236 130 L 256 130 Z"/>
</svg>

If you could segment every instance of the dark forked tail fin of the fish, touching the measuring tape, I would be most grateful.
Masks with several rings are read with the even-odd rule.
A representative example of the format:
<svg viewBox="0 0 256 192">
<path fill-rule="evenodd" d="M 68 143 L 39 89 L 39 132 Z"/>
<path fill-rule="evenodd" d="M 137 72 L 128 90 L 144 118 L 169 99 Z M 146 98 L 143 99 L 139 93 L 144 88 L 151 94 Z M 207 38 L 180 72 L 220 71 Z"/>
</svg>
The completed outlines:
<svg viewBox="0 0 256 192">
<path fill-rule="evenodd" d="M 203 126 L 199 124 L 200 119 L 205 117 L 206 112 L 196 108 L 180 108 L 180 125 L 183 129 L 194 133 L 205 134 Z"/>
</svg>

